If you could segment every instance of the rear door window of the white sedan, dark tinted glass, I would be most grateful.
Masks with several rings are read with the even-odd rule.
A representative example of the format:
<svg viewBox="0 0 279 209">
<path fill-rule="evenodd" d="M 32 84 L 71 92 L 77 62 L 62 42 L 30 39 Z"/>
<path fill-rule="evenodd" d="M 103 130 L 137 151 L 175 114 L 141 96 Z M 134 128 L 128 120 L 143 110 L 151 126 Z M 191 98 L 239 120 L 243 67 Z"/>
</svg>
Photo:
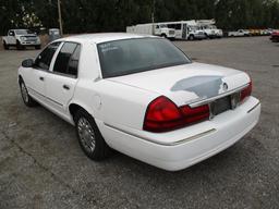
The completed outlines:
<svg viewBox="0 0 279 209">
<path fill-rule="evenodd" d="M 77 76 L 81 45 L 65 42 L 58 53 L 53 72 Z"/>
</svg>

